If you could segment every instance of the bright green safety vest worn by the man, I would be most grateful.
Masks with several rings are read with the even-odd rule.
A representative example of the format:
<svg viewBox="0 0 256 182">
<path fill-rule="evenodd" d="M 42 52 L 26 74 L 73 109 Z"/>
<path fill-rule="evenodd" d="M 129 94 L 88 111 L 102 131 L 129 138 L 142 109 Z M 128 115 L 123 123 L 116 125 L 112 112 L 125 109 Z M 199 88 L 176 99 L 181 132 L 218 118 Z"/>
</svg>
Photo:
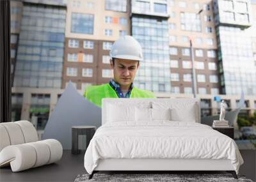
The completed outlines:
<svg viewBox="0 0 256 182">
<path fill-rule="evenodd" d="M 118 98 L 116 91 L 109 84 L 89 86 L 84 92 L 84 97 L 95 105 L 101 107 L 102 98 Z M 156 98 L 151 91 L 132 87 L 130 98 Z"/>
</svg>

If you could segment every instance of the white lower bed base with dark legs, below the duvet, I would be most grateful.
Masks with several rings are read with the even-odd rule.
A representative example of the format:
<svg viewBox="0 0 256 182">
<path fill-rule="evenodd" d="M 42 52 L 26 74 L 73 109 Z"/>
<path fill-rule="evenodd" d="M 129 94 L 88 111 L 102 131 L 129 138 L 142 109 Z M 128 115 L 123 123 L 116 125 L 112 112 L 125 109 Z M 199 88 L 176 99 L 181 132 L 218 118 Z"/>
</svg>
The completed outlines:
<svg viewBox="0 0 256 182">
<path fill-rule="evenodd" d="M 236 171 L 231 165 L 230 160 L 211 160 L 211 159 L 124 159 L 124 158 L 109 158 L 99 160 L 95 170 L 90 174 L 89 179 L 92 179 L 93 174 L 97 172 L 124 172 L 124 173 L 170 173 L 180 172 L 216 172 L 226 171 L 231 173 L 237 179 Z"/>
</svg>

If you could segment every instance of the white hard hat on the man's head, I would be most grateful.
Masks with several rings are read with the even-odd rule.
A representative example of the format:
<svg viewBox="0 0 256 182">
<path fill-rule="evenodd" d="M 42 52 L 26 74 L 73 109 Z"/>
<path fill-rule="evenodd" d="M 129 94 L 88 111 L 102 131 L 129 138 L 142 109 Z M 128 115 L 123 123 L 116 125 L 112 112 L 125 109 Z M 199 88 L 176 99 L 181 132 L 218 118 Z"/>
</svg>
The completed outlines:
<svg viewBox="0 0 256 182">
<path fill-rule="evenodd" d="M 135 61 L 143 60 L 140 43 L 129 35 L 122 36 L 113 43 L 109 56 L 120 59 L 131 59 Z"/>
</svg>

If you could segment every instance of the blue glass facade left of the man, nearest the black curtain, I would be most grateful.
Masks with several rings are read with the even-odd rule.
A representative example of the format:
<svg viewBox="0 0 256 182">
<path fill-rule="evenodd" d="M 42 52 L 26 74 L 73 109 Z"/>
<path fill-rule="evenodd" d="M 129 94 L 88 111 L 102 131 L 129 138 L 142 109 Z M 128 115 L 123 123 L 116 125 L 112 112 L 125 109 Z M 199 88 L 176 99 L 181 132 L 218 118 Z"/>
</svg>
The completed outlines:
<svg viewBox="0 0 256 182">
<path fill-rule="evenodd" d="M 65 8 L 24 4 L 15 87 L 61 87 Z"/>
</svg>

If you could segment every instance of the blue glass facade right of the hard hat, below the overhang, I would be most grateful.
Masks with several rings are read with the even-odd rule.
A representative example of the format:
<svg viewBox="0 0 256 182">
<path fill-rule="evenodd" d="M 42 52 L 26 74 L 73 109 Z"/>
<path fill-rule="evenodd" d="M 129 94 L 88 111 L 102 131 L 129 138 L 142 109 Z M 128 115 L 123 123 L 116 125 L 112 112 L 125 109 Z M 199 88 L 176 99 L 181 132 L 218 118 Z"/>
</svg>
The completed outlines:
<svg viewBox="0 0 256 182">
<path fill-rule="evenodd" d="M 144 57 L 134 84 L 138 87 L 145 84 L 145 89 L 154 92 L 170 92 L 167 20 L 134 15 L 132 16 L 132 36 L 140 42 Z"/>
</svg>

